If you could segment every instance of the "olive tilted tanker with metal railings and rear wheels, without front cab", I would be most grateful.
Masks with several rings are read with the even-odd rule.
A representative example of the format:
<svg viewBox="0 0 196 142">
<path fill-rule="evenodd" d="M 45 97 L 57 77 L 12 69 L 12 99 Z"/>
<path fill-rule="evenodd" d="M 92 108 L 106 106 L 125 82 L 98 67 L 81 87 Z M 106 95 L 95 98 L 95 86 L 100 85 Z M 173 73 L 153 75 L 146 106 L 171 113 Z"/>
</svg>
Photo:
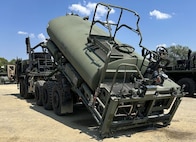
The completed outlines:
<svg viewBox="0 0 196 142">
<path fill-rule="evenodd" d="M 97 18 L 100 7 L 107 10 L 104 20 Z M 119 15 L 111 22 L 112 10 Z M 136 28 L 123 23 L 124 13 L 136 17 Z M 51 20 L 44 47 L 52 57 L 53 68 L 25 81 L 28 87 L 34 86 L 37 104 L 64 115 L 82 102 L 99 125 L 102 137 L 122 129 L 169 125 L 183 93 L 161 70 L 162 49 L 152 52 L 141 45 L 139 20 L 135 11 L 103 3 L 96 5 L 91 22 L 75 14 Z M 141 55 L 135 47 L 117 39 L 122 29 L 138 35 Z M 25 72 L 33 73 L 28 67 Z"/>
</svg>

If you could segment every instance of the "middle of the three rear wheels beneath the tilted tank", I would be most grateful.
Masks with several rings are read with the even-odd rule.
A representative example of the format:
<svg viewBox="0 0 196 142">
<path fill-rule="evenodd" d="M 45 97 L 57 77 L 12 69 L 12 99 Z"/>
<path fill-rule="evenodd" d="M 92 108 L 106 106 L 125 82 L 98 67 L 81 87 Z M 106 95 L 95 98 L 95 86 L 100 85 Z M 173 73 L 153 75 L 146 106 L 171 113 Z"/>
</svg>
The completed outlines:
<svg viewBox="0 0 196 142">
<path fill-rule="evenodd" d="M 54 83 L 52 81 L 45 82 L 43 86 L 42 102 L 46 110 L 52 110 L 52 88 Z"/>
</svg>

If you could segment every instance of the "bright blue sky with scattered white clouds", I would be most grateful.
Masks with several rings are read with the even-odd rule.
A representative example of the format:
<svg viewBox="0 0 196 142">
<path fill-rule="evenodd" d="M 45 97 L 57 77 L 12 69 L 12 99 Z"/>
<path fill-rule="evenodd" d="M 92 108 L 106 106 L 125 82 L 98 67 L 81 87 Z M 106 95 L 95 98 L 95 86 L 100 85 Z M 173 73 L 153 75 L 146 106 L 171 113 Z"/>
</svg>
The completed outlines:
<svg viewBox="0 0 196 142">
<path fill-rule="evenodd" d="M 140 15 L 145 47 L 196 46 L 195 0 L 2 0 L 0 4 L 0 57 L 27 58 L 25 38 L 34 46 L 48 38 L 48 21 L 74 12 L 90 17 L 95 3 L 122 6 Z M 115 14 L 115 13 L 114 13 Z"/>
</svg>

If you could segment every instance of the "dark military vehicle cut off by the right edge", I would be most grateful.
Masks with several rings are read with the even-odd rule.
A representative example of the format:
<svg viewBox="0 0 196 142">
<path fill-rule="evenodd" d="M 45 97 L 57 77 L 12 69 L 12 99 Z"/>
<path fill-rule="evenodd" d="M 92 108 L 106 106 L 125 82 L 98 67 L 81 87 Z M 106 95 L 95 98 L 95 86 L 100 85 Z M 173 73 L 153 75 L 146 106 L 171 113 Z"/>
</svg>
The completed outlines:
<svg viewBox="0 0 196 142">
<path fill-rule="evenodd" d="M 189 96 L 194 96 L 196 92 L 196 56 L 189 50 L 187 59 L 177 60 L 175 64 L 170 64 L 166 68 L 166 73 L 183 87 L 184 92 Z"/>
</svg>

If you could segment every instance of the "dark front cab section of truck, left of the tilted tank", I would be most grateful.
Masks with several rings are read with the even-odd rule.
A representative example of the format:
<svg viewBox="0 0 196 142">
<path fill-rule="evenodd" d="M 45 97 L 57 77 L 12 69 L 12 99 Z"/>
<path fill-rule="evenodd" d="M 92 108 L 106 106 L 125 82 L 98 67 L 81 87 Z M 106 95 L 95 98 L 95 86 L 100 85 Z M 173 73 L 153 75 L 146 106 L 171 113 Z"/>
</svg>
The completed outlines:
<svg viewBox="0 0 196 142">
<path fill-rule="evenodd" d="M 29 58 L 27 60 L 16 60 L 16 81 L 20 84 L 20 94 L 25 99 L 35 96 L 38 100 L 42 98 L 37 96 L 37 86 L 43 86 L 47 76 L 53 71 L 52 57 L 48 53 L 46 43 L 42 42 L 31 47 L 30 38 L 26 38 L 26 49 Z M 39 50 L 38 50 L 39 49 Z M 41 51 L 40 51 L 41 49 Z M 36 51 L 38 50 L 38 51 Z"/>
</svg>

